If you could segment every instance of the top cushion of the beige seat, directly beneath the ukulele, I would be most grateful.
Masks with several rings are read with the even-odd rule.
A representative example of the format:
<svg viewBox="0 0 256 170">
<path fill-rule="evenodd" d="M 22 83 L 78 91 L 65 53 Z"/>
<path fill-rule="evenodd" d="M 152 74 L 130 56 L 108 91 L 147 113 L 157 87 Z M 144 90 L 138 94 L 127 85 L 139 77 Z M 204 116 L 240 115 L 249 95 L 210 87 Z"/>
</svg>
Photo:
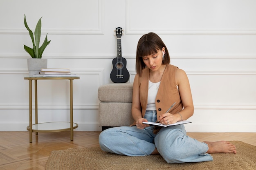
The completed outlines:
<svg viewBox="0 0 256 170">
<path fill-rule="evenodd" d="M 132 83 L 104 84 L 98 88 L 101 102 L 132 102 Z"/>
</svg>

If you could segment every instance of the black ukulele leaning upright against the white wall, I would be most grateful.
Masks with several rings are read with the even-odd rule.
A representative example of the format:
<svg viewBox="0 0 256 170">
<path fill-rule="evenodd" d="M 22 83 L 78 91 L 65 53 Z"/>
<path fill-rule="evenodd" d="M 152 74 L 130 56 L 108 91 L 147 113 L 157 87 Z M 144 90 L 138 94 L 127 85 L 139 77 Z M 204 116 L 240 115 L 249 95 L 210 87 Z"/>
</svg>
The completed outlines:
<svg viewBox="0 0 256 170">
<path fill-rule="evenodd" d="M 117 35 L 117 57 L 113 59 L 113 69 L 110 73 L 110 79 L 114 83 L 126 83 L 130 78 L 130 74 L 126 68 L 126 59 L 122 57 L 121 36 L 122 28 L 116 28 Z"/>
</svg>

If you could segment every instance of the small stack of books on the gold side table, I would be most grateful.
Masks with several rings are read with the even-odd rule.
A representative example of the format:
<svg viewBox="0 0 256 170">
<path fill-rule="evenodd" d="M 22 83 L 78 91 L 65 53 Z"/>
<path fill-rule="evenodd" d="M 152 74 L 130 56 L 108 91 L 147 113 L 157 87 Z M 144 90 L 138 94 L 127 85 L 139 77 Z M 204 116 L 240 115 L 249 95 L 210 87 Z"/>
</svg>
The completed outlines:
<svg viewBox="0 0 256 170">
<path fill-rule="evenodd" d="M 36 77 L 74 77 L 69 68 L 42 68 Z"/>
</svg>

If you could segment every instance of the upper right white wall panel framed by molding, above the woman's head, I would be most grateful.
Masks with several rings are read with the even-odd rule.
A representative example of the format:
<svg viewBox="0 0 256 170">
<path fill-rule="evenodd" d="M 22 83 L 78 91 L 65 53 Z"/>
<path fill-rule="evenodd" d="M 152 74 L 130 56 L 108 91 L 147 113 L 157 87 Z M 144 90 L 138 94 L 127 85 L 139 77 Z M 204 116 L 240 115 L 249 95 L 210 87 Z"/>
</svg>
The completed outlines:
<svg viewBox="0 0 256 170">
<path fill-rule="evenodd" d="M 244 3 L 247 1 L 245 0 Z M 126 0 L 126 34 L 143 35 L 144 33 L 155 32 L 159 35 L 256 35 L 256 25 L 252 26 L 250 20 L 243 22 L 245 27 L 247 26 L 248 28 L 239 28 L 240 24 L 236 22 L 236 17 L 238 16 L 248 19 L 252 13 L 256 15 L 252 7 L 247 9 L 247 13 L 239 13 L 238 15 L 237 11 L 240 9 L 239 3 L 243 4 L 243 2 L 238 2 L 237 6 L 234 5 L 232 8 L 230 8 L 229 4 L 232 1 L 225 0 L 221 2 L 218 0 L 216 2 L 223 6 L 223 8 L 212 9 L 211 3 L 206 4 L 207 2 L 203 0 L 195 0 L 193 2 L 169 1 L 169 3 L 167 0 L 162 0 L 161 3 L 154 2 L 153 0 L 141 0 L 139 2 Z M 149 13 L 148 8 L 139 8 L 148 3 L 154 6 L 155 12 Z M 204 8 L 198 8 L 199 6 L 203 6 Z M 179 11 L 175 7 L 180 7 Z M 228 23 L 225 20 L 225 16 L 221 15 L 221 13 L 227 14 L 225 7 L 230 8 L 229 15 L 234 17 Z M 158 8 L 161 8 L 161 11 L 157 10 Z M 212 10 L 218 10 L 218 12 Z M 137 17 L 136 12 L 140 13 L 141 17 Z M 150 18 L 153 18 L 153 15 L 157 12 L 162 17 L 157 18 L 158 21 L 150 22 Z M 214 16 L 212 12 L 216 12 Z M 146 23 L 142 24 L 140 22 L 141 18 L 145 19 L 146 15 L 148 15 Z M 211 19 L 216 24 L 211 23 Z M 200 20 L 204 21 L 204 24 Z M 177 27 L 179 28 L 177 29 Z M 205 28 L 202 29 L 203 27 Z"/>
</svg>

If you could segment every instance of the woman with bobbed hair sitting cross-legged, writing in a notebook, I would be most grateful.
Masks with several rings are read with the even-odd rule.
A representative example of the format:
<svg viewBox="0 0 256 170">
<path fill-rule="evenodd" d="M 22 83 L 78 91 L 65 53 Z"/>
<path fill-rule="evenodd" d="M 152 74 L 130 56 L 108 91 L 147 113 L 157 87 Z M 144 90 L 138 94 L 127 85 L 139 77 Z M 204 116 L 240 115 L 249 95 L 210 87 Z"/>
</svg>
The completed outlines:
<svg viewBox="0 0 256 170">
<path fill-rule="evenodd" d="M 155 33 L 143 35 L 137 45 L 130 127 L 109 128 L 99 135 L 104 151 L 119 155 L 160 154 L 167 163 L 212 161 L 211 153 L 236 153 L 228 141 L 199 142 L 186 136 L 184 125 L 149 126 L 144 121 L 173 124 L 193 115 L 186 73 L 170 64 L 168 50 Z M 166 110 L 176 103 L 166 113 Z"/>
</svg>

